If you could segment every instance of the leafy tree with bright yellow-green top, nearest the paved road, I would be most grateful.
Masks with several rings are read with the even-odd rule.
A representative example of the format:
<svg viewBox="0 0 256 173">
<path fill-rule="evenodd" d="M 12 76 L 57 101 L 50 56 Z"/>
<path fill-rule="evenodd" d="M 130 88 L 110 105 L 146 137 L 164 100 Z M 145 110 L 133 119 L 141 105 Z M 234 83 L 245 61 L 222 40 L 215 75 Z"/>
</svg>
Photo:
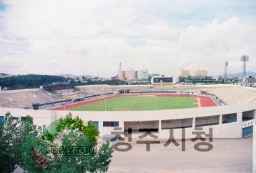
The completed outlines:
<svg viewBox="0 0 256 173">
<path fill-rule="evenodd" d="M 72 118 L 69 113 L 65 118 L 60 118 L 56 130 L 63 133 L 61 147 L 65 146 L 92 146 L 96 147 L 98 131 L 92 121 L 84 125 L 79 117 Z M 57 169 L 55 172 L 106 172 L 111 162 L 114 150 L 107 141 L 103 143 L 99 150 L 95 150 L 90 156 L 65 156 L 57 158 Z M 67 167 L 67 165 L 69 165 Z"/>
</svg>

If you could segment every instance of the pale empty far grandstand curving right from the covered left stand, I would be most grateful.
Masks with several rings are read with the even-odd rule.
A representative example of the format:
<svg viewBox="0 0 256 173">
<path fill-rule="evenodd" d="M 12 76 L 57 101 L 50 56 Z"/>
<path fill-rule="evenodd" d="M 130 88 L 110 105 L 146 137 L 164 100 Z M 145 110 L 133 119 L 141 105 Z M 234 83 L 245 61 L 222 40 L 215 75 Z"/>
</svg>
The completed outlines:
<svg viewBox="0 0 256 173">
<path fill-rule="evenodd" d="M 87 95 L 119 93 L 122 90 L 129 90 L 129 93 L 201 93 L 214 95 L 222 99 L 227 105 L 245 103 L 256 99 L 256 91 L 250 87 L 242 87 L 237 85 L 216 84 L 216 85 L 174 85 L 174 86 L 152 86 L 152 85 L 91 85 L 77 87 Z M 162 91 L 162 92 L 160 92 Z"/>
</svg>

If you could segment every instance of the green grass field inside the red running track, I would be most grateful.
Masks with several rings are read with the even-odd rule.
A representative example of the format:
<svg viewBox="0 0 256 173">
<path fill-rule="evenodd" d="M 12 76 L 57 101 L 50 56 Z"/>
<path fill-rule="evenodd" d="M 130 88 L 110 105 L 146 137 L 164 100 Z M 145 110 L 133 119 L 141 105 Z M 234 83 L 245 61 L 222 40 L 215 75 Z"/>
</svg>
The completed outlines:
<svg viewBox="0 0 256 173">
<path fill-rule="evenodd" d="M 196 97 L 116 97 L 74 107 L 71 111 L 148 111 L 161 109 L 183 109 L 195 107 Z"/>
</svg>

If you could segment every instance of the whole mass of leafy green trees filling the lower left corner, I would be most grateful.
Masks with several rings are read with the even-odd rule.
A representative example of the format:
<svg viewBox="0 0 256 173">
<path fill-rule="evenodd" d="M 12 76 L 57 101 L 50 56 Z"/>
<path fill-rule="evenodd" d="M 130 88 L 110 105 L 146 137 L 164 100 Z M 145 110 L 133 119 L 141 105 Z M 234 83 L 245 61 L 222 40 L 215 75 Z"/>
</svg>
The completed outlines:
<svg viewBox="0 0 256 173">
<path fill-rule="evenodd" d="M 61 118 L 56 130 L 61 136 L 57 143 L 49 131 L 33 124 L 32 117 L 18 119 L 10 113 L 0 125 L 0 172 L 13 172 L 20 166 L 26 172 L 106 172 L 114 152 L 109 141 L 96 148 L 98 131 L 89 121 L 85 125 L 79 117 L 71 113 Z M 94 152 L 65 155 L 61 148 L 80 146 Z M 58 152 L 56 152 L 58 151 Z"/>
</svg>

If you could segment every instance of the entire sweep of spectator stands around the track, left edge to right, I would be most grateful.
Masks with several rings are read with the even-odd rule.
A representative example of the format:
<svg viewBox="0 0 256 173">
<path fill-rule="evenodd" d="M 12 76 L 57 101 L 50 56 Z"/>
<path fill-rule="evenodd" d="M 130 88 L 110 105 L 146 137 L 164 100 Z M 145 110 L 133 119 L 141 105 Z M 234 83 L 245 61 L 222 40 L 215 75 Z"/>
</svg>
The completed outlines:
<svg viewBox="0 0 256 173">
<path fill-rule="evenodd" d="M 67 88 L 61 93 L 51 89 L 25 89 L 0 92 L 0 107 L 28 107 L 32 103 L 51 103 L 60 100 L 78 99 L 100 95 L 117 95 L 120 93 L 145 94 L 145 93 L 172 93 L 179 94 L 190 92 L 191 94 L 203 93 L 210 95 L 216 101 L 221 100 L 225 105 L 234 105 L 256 100 L 256 91 L 253 88 L 237 85 L 174 85 L 174 86 L 152 86 L 152 85 L 87 85 L 77 86 L 72 91 Z M 220 104 L 221 105 L 221 104 Z"/>
</svg>

